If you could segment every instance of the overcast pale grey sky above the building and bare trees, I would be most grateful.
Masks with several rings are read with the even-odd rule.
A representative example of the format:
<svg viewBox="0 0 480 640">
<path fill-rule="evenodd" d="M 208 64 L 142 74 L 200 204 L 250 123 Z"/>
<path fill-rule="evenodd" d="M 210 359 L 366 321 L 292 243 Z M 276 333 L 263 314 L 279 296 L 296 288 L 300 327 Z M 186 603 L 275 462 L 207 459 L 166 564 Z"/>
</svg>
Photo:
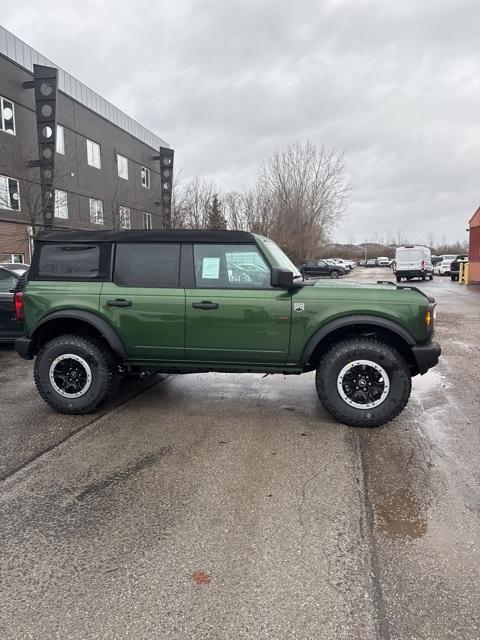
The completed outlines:
<svg viewBox="0 0 480 640">
<path fill-rule="evenodd" d="M 480 205 L 478 0 L 0 0 L 2 24 L 240 189 L 295 141 L 345 152 L 336 239 L 466 239 Z"/>
</svg>

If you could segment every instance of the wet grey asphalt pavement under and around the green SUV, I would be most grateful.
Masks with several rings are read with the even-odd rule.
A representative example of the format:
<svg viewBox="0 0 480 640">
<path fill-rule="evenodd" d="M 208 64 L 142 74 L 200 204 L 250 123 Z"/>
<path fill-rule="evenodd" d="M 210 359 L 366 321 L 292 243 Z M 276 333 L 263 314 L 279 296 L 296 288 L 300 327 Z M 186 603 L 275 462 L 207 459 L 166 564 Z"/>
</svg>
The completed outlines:
<svg viewBox="0 0 480 640">
<path fill-rule="evenodd" d="M 479 639 L 480 290 L 416 286 L 443 356 L 380 429 L 313 374 L 130 381 L 62 416 L 0 346 L 1 640 Z"/>
</svg>

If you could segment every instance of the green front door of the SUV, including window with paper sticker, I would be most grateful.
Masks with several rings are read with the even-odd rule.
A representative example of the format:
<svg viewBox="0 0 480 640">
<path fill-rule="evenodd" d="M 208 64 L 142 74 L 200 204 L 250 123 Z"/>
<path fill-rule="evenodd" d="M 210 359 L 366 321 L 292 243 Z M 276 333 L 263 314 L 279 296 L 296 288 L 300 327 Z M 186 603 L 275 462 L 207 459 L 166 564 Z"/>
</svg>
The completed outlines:
<svg viewBox="0 0 480 640">
<path fill-rule="evenodd" d="M 193 249 L 196 288 L 186 290 L 186 360 L 285 363 L 291 295 L 270 286 L 270 267 L 257 246 Z"/>
</svg>

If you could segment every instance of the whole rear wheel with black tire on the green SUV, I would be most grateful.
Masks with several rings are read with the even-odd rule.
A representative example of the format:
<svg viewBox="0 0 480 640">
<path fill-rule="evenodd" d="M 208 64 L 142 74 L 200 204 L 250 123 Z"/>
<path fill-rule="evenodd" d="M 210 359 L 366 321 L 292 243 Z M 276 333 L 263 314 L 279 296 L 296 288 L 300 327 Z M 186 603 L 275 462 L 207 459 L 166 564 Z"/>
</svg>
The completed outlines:
<svg viewBox="0 0 480 640">
<path fill-rule="evenodd" d="M 38 392 L 60 413 L 92 413 L 113 393 L 117 376 L 111 351 L 100 340 L 62 335 L 39 351 L 34 368 Z"/>
</svg>

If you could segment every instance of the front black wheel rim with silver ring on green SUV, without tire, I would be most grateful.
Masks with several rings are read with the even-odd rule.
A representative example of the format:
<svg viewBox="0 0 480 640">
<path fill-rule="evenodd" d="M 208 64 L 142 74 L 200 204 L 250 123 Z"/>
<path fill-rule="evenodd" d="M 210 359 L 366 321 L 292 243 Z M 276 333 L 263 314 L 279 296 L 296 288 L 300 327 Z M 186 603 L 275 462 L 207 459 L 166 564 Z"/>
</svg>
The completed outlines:
<svg viewBox="0 0 480 640">
<path fill-rule="evenodd" d="M 374 409 L 390 391 L 390 378 L 383 367 L 372 360 L 354 360 L 337 377 L 337 390 L 344 402 L 355 409 Z"/>
</svg>

